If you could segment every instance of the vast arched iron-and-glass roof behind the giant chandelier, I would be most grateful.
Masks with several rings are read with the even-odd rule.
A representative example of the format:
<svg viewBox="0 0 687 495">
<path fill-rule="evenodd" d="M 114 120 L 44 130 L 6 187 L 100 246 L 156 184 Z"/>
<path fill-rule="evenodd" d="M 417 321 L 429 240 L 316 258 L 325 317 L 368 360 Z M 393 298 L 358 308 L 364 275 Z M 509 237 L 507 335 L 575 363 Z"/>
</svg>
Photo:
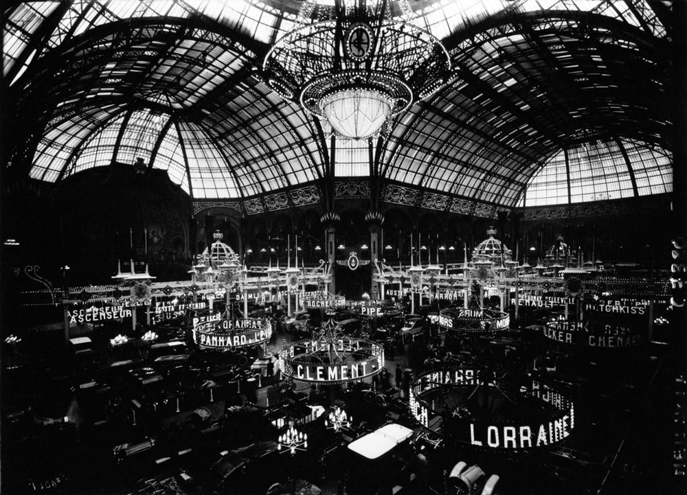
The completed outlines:
<svg viewBox="0 0 687 495">
<path fill-rule="evenodd" d="M 329 140 L 312 117 L 271 91 L 254 70 L 295 25 L 300 5 L 13 3 L 5 8 L 3 73 L 8 119 L 16 122 L 12 142 L 24 148 L 12 150 L 9 165 L 56 183 L 141 157 L 149 167 L 167 170 L 196 200 L 246 199 L 317 181 L 326 174 Z M 539 177 L 550 176 L 562 150 L 572 157 L 574 150 L 596 149 L 594 143 L 610 143 L 609 149 L 623 143 L 629 157 L 653 156 L 659 149 L 666 150 L 660 160 L 669 157 L 669 5 L 409 5 L 414 22 L 442 38 L 454 70 L 427 102 L 398 115 L 383 146 L 372 143 L 383 179 L 515 207 L 528 185 L 533 189 L 527 203 L 534 201 Z M 367 142 L 337 143 L 332 173 L 365 176 L 369 158 Z M 613 166 L 603 173 L 619 174 L 609 183 L 622 186 L 606 189 L 624 197 L 627 172 Z M 646 178 L 642 173 L 635 174 L 633 195 L 669 188 L 663 172 L 663 189 L 651 182 L 657 180 L 653 172 Z M 572 202 L 609 194 L 573 189 Z M 558 201 L 560 194 L 551 197 Z"/>
</svg>

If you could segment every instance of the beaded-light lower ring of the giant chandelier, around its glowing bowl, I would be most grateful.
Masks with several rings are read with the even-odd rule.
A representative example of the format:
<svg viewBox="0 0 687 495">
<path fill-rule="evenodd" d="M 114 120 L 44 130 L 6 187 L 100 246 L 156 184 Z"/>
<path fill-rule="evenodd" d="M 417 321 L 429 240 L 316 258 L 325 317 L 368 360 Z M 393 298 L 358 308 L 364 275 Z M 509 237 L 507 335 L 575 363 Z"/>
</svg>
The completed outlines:
<svg viewBox="0 0 687 495">
<path fill-rule="evenodd" d="M 389 102 L 390 115 L 405 111 L 413 102 L 413 92 L 401 78 L 379 71 L 349 70 L 325 73 L 308 82 L 301 92 L 300 103 L 313 115 L 325 117 L 326 98 L 347 89 L 367 89 L 379 93 Z"/>
</svg>

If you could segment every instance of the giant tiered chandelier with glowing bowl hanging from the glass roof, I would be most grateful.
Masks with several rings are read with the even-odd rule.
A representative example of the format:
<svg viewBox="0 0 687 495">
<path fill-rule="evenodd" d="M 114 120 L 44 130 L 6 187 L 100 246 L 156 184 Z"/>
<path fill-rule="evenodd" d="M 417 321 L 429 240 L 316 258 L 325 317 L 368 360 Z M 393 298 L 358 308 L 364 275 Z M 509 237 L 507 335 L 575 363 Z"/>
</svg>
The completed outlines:
<svg viewBox="0 0 687 495">
<path fill-rule="evenodd" d="M 408 0 L 306 0 L 262 65 L 269 86 L 346 139 L 386 135 L 391 119 L 445 82 L 441 42 Z M 349 5 L 350 3 L 350 5 Z"/>
</svg>

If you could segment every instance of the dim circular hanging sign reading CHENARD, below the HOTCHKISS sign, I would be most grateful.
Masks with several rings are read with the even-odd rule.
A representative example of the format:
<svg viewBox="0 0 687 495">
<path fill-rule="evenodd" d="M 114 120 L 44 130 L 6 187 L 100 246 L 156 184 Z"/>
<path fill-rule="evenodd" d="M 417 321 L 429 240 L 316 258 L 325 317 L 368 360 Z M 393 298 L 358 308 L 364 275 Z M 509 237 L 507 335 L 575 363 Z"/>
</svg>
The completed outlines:
<svg viewBox="0 0 687 495">
<path fill-rule="evenodd" d="M 550 341 L 581 347 L 627 349 L 642 343 L 638 332 L 630 328 L 605 325 L 595 331 L 581 321 L 550 320 L 545 323 L 543 333 Z"/>
</svg>

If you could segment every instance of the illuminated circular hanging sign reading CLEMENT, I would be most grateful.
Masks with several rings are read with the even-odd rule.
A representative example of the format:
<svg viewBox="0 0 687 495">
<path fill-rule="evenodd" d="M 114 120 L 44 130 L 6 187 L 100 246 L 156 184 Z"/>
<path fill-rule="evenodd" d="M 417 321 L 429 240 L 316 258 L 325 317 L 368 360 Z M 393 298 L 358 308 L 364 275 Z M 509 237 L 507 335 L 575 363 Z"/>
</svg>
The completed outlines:
<svg viewBox="0 0 687 495">
<path fill-rule="evenodd" d="M 330 352 L 348 352 L 352 360 L 330 362 Z M 335 353 L 336 355 L 336 353 Z M 298 382 L 337 384 L 357 382 L 380 373 L 384 348 L 372 341 L 339 336 L 330 341 L 291 343 L 279 352 L 282 375 Z"/>
</svg>

